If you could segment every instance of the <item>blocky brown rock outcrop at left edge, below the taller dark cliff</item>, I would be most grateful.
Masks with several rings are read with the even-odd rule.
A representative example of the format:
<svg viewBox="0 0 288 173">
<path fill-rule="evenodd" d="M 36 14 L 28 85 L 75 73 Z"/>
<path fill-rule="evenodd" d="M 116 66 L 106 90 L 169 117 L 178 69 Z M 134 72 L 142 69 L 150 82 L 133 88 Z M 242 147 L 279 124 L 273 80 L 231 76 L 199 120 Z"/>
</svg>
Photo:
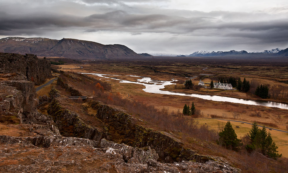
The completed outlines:
<svg viewBox="0 0 288 173">
<path fill-rule="evenodd" d="M 38 100 L 34 83 L 27 80 L 7 80 L 0 82 L 0 112 L 1 116 L 15 117 L 19 124 L 53 125 L 52 117 L 40 114 L 36 110 Z"/>
</svg>

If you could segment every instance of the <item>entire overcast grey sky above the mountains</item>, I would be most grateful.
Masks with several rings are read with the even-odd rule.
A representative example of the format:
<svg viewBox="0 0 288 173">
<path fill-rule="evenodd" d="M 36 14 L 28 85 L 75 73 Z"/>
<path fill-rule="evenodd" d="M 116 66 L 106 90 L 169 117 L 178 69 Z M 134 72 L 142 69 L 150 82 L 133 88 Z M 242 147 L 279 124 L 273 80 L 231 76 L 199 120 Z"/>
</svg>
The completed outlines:
<svg viewBox="0 0 288 173">
<path fill-rule="evenodd" d="M 287 0 L 1 0 L 0 37 L 75 38 L 137 53 L 288 47 Z"/>
</svg>

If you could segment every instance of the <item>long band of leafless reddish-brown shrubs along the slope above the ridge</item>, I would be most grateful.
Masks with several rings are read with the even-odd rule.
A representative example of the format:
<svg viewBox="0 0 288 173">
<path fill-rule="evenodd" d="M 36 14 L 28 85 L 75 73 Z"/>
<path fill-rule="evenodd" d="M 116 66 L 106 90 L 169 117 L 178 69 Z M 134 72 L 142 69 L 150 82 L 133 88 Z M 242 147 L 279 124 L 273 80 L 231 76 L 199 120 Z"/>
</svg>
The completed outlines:
<svg viewBox="0 0 288 173">
<path fill-rule="evenodd" d="M 180 131 L 184 133 L 183 138 L 190 136 L 207 141 L 216 141 L 218 139 L 218 133 L 216 131 L 210 130 L 207 126 L 198 127 L 197 121 L 194 121 L 192 116 L 183 116 L 179 109 L 176 113 L 172 112 L 169 114 L 167 107 L 158 110 L 152 105 L 129 100 L 118 94 L 108 94 L 105 91 L 96 90 L 95 95 L 94 100 L 99 100 L 108 105 L 125 107 L 128 112 L 145 121 L 153 122 L 153 124 L 160 128 Z M 201 114 L 200 110 L 196 112 L 197 117 Z"/>
</svg>

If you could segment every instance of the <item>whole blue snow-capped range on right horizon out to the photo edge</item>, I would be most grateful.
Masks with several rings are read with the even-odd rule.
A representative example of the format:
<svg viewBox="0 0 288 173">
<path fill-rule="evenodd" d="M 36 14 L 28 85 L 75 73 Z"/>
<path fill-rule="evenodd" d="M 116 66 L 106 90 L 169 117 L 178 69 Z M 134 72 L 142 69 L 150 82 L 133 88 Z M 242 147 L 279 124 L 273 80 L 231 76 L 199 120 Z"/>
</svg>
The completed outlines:
<svg viewBox="0 0 288 173">
<path fill-rule="evenodd" d="M 285 54 L 285 51 L 283 49 L 279 49 L 279 48 L 272 49 L 272 50 L 264 50 L 263 52 L 250 52 L 250 53 L 248 53 L 245 50 L 242 50 L 242 51 L 230 50 L 227 52 L 197 51 L 197 52 L 194 52 L 190 55 L 185 55 L 185 56 L 231 56 L 231 55 L 248 55 L 248 54 L 274 54 L 275 56 L 287 56 L 287 55 L 283 55 L 283 54 Z"/>
</svg>

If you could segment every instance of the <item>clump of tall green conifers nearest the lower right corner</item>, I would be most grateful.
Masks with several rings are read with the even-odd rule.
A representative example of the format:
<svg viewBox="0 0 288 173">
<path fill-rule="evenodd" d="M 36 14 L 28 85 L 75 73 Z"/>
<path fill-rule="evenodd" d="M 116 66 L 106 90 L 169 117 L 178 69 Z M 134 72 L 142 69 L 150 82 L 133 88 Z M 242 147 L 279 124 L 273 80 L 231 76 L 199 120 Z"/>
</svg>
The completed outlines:
<svg viewBox="0 0 288 173">
<path fill-rule="evenodd" d="M 268 155 L 271 158 L 282 157 L 278 154 L 278 147 L 273 142 L 271 133 L 266 131 L 265 126 L 259 129 L 257 123 L 252 124 L 252 129 L 249 132 L 250 144 L 246 145 L 248 151 L 260 150 L 263 155 Z"/>
</svg>

